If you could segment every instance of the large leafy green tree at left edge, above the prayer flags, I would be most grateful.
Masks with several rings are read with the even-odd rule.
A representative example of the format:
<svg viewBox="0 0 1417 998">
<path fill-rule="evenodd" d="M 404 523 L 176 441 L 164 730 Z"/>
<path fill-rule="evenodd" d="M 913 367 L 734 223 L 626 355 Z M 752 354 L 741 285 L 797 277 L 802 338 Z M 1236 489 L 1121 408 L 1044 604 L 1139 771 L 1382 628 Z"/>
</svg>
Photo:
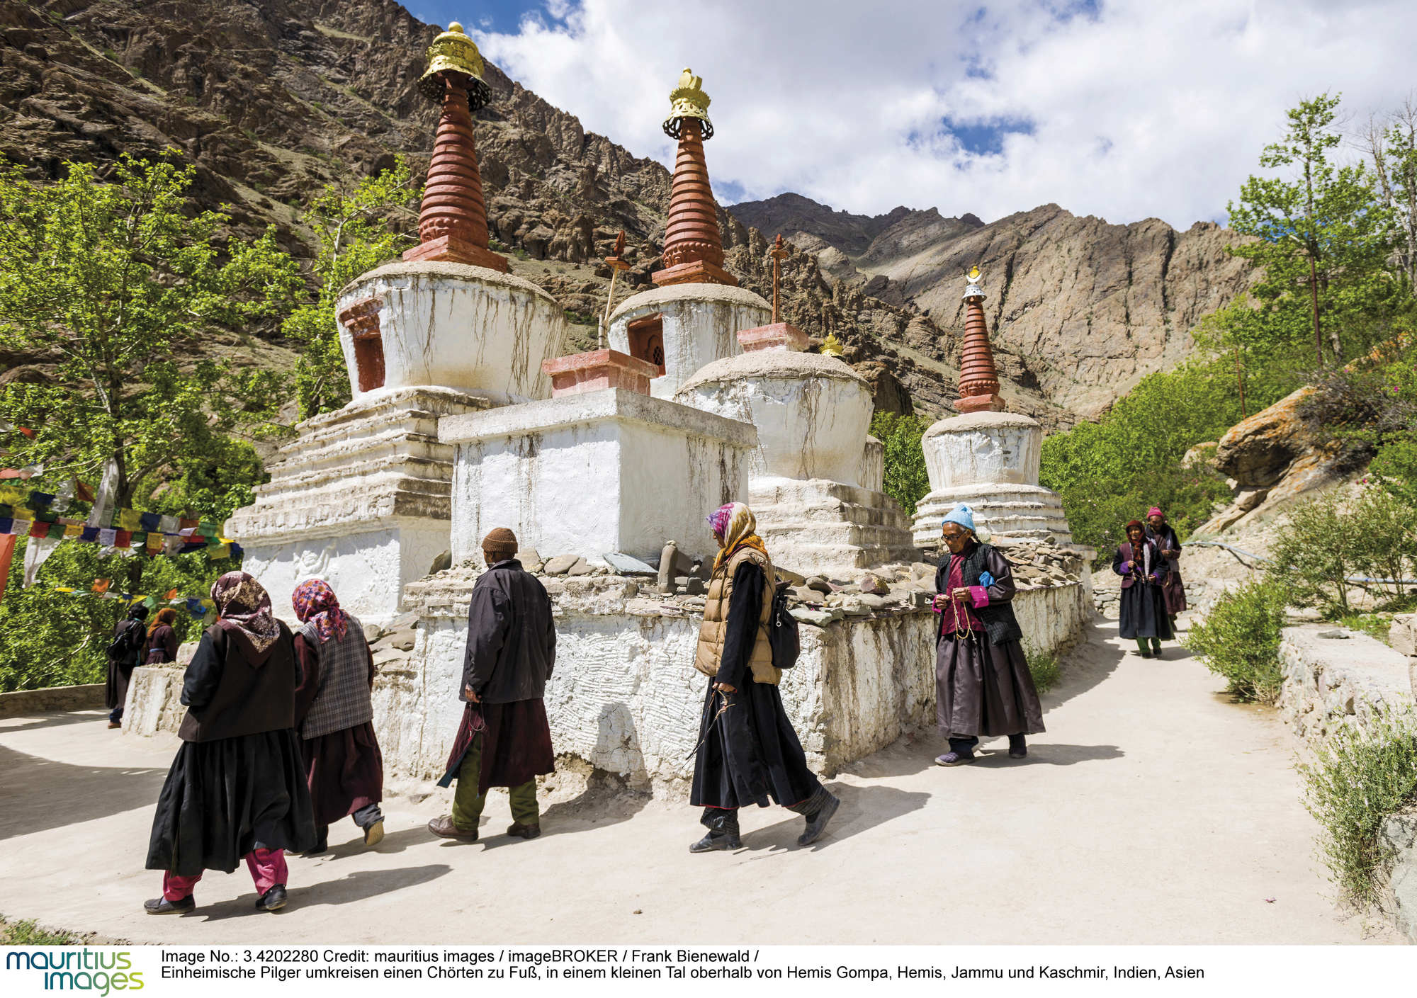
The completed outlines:
<svg viewBox="0 0 1417 998">
<path fill-rule="evenodd" d="M 0 336 L 58 359 L 57 384 L 0 396 L 0 415 L 35 431 L 3 441 L 11 461 L 44 465 L 35 485 L 92 481 L 112 461 L 113 499 L 132 505 L 276 411 L 278 374 L 205 357 L 201 339 L 281 313 L 299 269 L 269 230 L 218 250 L 228 217 L 191 210 L 194 177 L 128 155 L 106 180 L 89 163 L 47 186 L 0 173 Z"/>
</svg>

